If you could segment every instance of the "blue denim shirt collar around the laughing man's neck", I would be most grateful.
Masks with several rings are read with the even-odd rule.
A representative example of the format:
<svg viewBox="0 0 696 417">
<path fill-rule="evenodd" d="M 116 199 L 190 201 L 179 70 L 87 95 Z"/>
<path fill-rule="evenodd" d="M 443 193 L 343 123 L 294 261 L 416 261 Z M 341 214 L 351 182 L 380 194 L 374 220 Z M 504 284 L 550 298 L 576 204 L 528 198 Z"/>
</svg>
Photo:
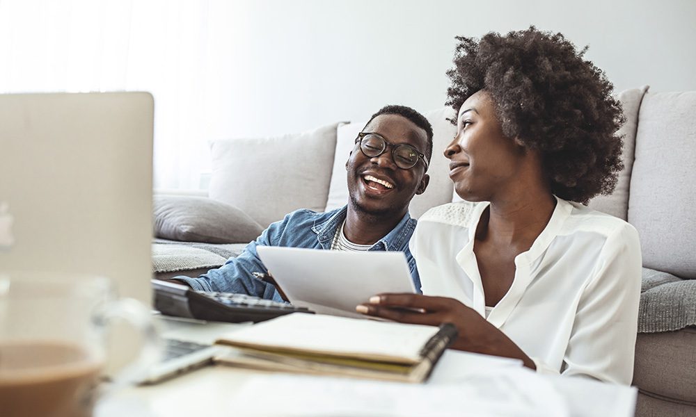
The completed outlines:
<svg viewBox="0 0 696 417">
<path fill-rule="evenodd" d="M 336 229 L 343 224 L 348 212 L 348 206 L 337 210 L 328 220 L 317 219 L 312 231 L 317 234 L 317 239 L 324 249 L 331 249 L 331 242 L 336 234 Z M 401 221 L 386 236 L 377 240 L 370 250 L 404 250 L 409 245 L 409 239 L 416 229 L 416 220 L 406 212 Z"/>
</svg>

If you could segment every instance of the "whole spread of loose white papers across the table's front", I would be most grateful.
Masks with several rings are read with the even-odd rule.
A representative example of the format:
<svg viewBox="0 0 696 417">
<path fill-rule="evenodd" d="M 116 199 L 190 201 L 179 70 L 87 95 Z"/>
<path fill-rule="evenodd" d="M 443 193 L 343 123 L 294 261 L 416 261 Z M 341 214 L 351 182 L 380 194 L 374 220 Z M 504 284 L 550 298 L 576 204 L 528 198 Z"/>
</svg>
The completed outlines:
<svg viewBox="0 0 696 417">
<path fill-rule="evenodd" d="M 229 404 L 230 413 L 249 417 L 632 417 L 635 397 L 631 386 L 502 366 L 432 384 L 257 376 Z"/>
</svg>

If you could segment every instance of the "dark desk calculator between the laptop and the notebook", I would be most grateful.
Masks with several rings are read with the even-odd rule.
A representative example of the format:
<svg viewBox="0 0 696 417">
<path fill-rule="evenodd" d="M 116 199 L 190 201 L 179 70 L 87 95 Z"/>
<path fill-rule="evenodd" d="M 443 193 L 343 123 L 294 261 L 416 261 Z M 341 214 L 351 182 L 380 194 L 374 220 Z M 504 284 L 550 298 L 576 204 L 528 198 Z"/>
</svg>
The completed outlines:
<svg viewBox="0 0 696 417">
<path fill-rule="evenodd" d="M 252 295 L 196 291 L 183 284 L 152 279 L 155 309 L 166 316 L 220 322 L 260 322 L 290 313 L 314 313 L 306 307 Z"/>
</svg>

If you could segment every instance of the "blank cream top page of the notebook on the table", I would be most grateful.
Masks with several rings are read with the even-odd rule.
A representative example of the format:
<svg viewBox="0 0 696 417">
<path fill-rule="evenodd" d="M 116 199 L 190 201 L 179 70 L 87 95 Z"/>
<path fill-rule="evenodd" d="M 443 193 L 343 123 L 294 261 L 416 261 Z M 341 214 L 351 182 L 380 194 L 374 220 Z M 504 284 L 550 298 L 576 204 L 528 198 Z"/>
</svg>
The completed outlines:
<svg viewBox="0 0 696 417">
<path fill-rule="evenodd" d="M 239 329 L 219 343 L 417 362 L 438 327 L 292 313 Z"/>
</svg>

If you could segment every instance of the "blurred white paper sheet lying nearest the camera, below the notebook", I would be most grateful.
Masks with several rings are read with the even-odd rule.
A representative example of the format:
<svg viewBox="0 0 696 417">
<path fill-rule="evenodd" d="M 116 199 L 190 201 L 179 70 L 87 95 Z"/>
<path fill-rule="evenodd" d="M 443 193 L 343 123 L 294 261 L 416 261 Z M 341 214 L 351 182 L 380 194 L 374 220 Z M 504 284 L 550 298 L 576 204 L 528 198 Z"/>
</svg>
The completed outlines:
<svg viewBox="0 0 696 417">
<path fill-rule="evenodd" d="M 269 399 L 272 398 L 272 401 Z M 569 417 L 545 379 L 521 368 L 456 384 L 398 384 L 328 377 L 254 377 L 230 399 L 242 416 Z"/>
</svg>

